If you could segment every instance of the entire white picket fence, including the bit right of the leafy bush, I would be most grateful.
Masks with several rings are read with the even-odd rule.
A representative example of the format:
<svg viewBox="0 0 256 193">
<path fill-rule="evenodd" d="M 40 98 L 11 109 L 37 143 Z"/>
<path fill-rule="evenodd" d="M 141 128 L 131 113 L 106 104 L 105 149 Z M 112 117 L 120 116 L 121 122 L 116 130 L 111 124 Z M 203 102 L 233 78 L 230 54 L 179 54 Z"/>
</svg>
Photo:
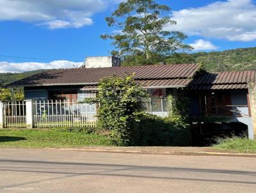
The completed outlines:
<svg viewBox="0 0 256 193">
<path fill-rule="evenodd" d="M 3 108 L 0 109 L 0 125 L 3 123 L 3 127 L 8 128 L 96 127 L 96 106 L 65 100 L 0 102 Z M 148 99 L 144 106 L 150 114 L 168 116 L 165 99 Z"/>
</svg>

